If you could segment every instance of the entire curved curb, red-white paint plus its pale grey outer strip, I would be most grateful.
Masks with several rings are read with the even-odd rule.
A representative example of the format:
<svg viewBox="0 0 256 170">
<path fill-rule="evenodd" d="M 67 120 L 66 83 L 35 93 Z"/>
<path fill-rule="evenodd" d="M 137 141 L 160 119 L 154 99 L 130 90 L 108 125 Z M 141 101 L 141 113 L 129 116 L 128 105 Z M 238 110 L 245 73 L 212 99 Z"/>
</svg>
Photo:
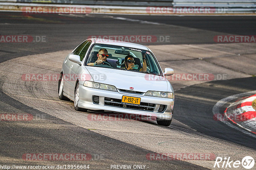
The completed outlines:
<svg viewBox="0 0 256 170">
<path fill-rule="evenodd" d="M 255 133 L 253 129 L 255 129 L 256 127 L 256 121 L 255 121 L 256 111 L 252 108 L 252 101 L 256 99 L 255 94 L 256 94 L 256 90 L 236 94 L 233 96 L 228 96 L 224 99 L 221 99 L 213 106 L 212 113 L 213 115 L 222 114 L 223 112 L 220 113 L 220 108 L 223 107 L 223 105 L 225 105 L 226 103 L 232 100 L 234 101 L 236 98 L 249 96 L 239 101 L 236 101 L 235 103 L 230 104 L 228 108 L 226 108 L 226 110 L 224 111 L 225 112 L 224 114 L 227 117 L 228 121 L 225 119 L 220 121 L 236 130 L 239 130 L 247 135 L 250 135 L 256 138 L 256 136 L 252 134 L 252 133 Z M 236 118 L 240 117 L 240 119 L 234 120 L 234 117 Z M 236 124 L 237 126 L 232 124 L 230 121 Z"/>
</svg>

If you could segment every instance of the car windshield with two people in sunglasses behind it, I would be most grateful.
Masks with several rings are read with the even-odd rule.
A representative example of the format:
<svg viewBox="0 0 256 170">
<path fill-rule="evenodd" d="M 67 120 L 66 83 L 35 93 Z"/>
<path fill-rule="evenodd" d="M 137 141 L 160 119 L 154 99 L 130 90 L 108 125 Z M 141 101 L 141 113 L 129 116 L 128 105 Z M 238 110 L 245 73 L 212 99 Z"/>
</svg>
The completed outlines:
<svg viewBox="0 0 256 170">
<path fill-rule="evenodd" d="M 98 60 L 98 56 L 100 60 L 103 59 L 103 64 L 97 64 L 95 62 L 96 60 Z M 125 62 L 125 57 L 128 60 L 127 62 Z M 145 63 L 143 67 L 142 58 L 144 57 L 146 58 L 146 60 L 144 60 Z M 149 51 L 125 46 L 95 44 L 92 47 L 92 50 L 85 62 L 85 65 L 92 67 L 106 67 L 110 69 L 129 70 L 127 66 L 129 64 L 130 59 L 134 60 L 134 67 L 130 71 L 138 71 L 146 74 L 161 75 L 161 71 L 157 66 L 156 60 Z M 145 65 L 147 67 L 145 67 Z"/>
</svg>

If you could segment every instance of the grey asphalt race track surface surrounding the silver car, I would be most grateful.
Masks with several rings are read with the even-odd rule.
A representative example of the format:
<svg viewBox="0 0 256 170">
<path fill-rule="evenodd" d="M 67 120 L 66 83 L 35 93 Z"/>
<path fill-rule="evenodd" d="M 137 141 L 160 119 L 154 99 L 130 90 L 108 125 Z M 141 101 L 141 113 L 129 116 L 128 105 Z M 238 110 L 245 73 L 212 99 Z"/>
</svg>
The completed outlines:
<svg viewBox="0 0 256 170">
<path fill-rule="evenodd" d="M 0 165 L 220 169 L 213 167 L 215 157 L 230 157 L 234 161 L 241 161 L 245 156 L 256 159 L 256 135 L 214 120 L 212 112 L 221 99 L 253 91 L 256 83 L 256 44 L 216 43 L 214 37 L 255 35 L 255 21 L 255 16 L 1 12 L 1 36 L 29 35 L 33 41 L 1 40 L 0 114 L 29 114 L 33 115 L 33 120 L 0 121 Z M 170 77 L 175 103 L 169 127 L 157 125 L 154 119 L 92 121 L 88 117 L 99 112 L 78 112 L 73 102 L 59 100 L 58 81 L 22 79 L 24 74 L 59 74 L 65 56 L 93 35 L 154 36 L 157 38 L 154 42 L 137 43 L 153 51 L 162 69 L 170 67 L 182 75 L 211 74 L 214 78 L 199 81 Z M 161 39 L 163 37 L 165 40 Z M 223 105 L 220 113 L 229 104 Z M 26 156 L 33 153 L 87 153 L 91 158 L 27 160 Z M 147 157 L 150 153 L 209 153 L 214 159 L 150 160 Z"/>
</svg>

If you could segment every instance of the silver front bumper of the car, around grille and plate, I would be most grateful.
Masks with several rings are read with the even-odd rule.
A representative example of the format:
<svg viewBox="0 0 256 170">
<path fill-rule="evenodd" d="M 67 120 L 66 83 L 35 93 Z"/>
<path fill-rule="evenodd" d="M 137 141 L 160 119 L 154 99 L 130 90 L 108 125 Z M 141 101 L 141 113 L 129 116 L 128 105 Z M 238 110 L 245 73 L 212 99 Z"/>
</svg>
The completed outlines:
<svg viewBox="0 0 256 170">
<path fill-rule="evenodd" d="M 94 103 L 92 101 L 93 96 L 99 96 L 99 104 Z M 155 103 L 155 107 L 153 111 L 149 110 L 139 110 L 139 109 L 131 109 L 125 107 L 117 107 L 117 106 L 109 106 L 105 105 L 104 101 L 105 97 L 107 98 L 114 98 L 114 99 L 122 99 L 122 96 L 132 96 L 132 97 L 140 97 L 140 102 L 143 103 Z M 152 96 L 141 96 L 136 95 L 133 93 L 127 92 L 116 92 L 116 91 L 109 91 L 109 90 L 102 90 L 102 89 L 94 89 L 85 87 L 82 84 L 79 85 L 79 101 L 78 107 L 85 108 L 89 110 L 106 110 L 118 113 L 126 113 L 126 114 L 135 114 L 135 115 L 142 115 L 142 116 L 152 116 L 157 117 L 160 119 L 172 119 L 172 111 L 173 111 L 173 103 L 174 98 L 163 98 L 163 97 L 152 97 Z M 165 109 L 162 112 L 158 112 L 158 109 L 161 105 L 165 105 Z"/>
</svg>

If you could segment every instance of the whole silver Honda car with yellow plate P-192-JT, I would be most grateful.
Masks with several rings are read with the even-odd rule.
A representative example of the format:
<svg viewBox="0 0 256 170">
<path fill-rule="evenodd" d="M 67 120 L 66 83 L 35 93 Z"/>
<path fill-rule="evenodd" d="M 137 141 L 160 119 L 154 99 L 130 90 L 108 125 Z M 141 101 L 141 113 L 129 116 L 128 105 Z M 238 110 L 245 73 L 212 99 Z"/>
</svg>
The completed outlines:
<svg viewBox="0 0 256 170">
<path fill-rule="evenodd" d="M 102 60 L 101 60 L 102 59 Z M 129 66 L 130 65 L 130 66 Z M 105 110 L 172 122 L 174 91 L 150 49 L 111 39 L 87 39 L 65 58 L 59 98 L 75 110 Z"/>
</svg>

